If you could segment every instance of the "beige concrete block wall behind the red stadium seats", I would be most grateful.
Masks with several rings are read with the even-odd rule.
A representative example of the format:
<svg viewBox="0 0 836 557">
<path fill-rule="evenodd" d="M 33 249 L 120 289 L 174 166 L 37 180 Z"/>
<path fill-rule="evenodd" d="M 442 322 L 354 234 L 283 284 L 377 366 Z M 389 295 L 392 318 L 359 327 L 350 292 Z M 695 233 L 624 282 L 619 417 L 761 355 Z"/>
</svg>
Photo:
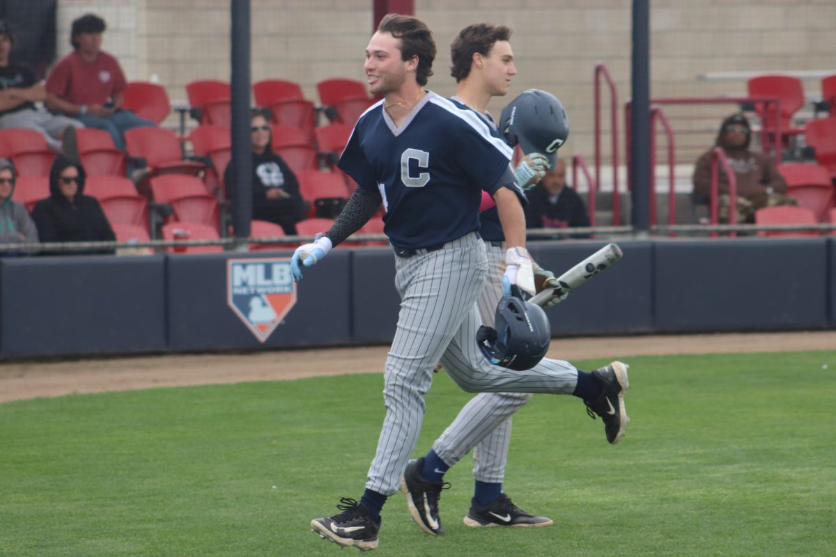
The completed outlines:
<svg viewBox="0 0 836 557">
<path fill-rule="evenodd" d="M 372 0 L 252 0 L 251 6 L 253 81 L 291 79 L 316 100 L 321 79 L 363 78 Z M 450 43 L 461 28 L 482 21 L 507 25 L 519 72 L 510 94 L 534 88 L 557 95 L 572 123 L 564 150 L 589 159 L 595 63 L 607 63 L 620 101 L 630 98 L 631 6 L 631 0 L 416 0 L 415 15 L 433 30 L 439 50 L 430 87 L 444 95 L 455 91 Z M 99 13 L 109 25 L 104 48 L 119 56 L 128 78 L 155 76 L 171 99 L 184 100 L 185 85 L 194 79 L 229 79 L 229 7 L 229 0 L 59 0 L 59 54 L 69 52 L 71 21 Z M 654 97 L 744 94 L 743 79 L 698 76 L 836 73 L 834 21 L 833 0 L 651 0 L 650 90 Z M 808 94 L 820 92 L 817 78 L 805 79 L 804 87 Z M 504 104 L 495 99 L 489 109 Z M 719 124 L 711 118 L 706 148 Z M 176 125 L 175 115 L 169 124 Z M 608 153 L 604 149 L 605 158 Z"/>
</svg>

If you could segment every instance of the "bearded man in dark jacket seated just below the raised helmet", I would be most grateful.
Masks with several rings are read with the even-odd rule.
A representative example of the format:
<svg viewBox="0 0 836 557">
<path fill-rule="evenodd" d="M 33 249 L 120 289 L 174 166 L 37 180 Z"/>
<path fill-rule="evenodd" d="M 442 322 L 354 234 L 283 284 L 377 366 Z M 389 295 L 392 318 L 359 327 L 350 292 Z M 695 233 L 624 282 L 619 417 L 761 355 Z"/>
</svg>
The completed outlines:
<svg viewBox="0 0 836 557">
<path fill-rule="evenodd" d="M 568 228 L 589 226 L 584 200 L 566 185 L 566 161 L 548 170 L 543 180 L 526 192 L 526 228 Z M 575 236 L 573 236 L 575 237 Z"/>
</svg>

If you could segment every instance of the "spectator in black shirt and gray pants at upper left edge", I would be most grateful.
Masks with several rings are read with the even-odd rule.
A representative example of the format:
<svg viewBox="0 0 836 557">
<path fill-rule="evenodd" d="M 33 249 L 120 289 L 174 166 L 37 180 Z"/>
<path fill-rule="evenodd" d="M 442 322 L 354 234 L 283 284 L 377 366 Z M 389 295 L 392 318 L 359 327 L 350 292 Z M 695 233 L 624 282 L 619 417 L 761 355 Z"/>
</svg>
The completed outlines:
<svg viewBox="0 0 836 557">
<path fill-rule="evenodd" d="M 82 128 L 78 120 L 35 108 L 47 98 L 43 81 L 35 79 L 32 68 L 11 63 L 15 37 L 8 22 L 0 20 L 0 128 L 28 128 L 43 134 L 50 149 L 60 152 L 61 134 L 68 126 Z"/>
</svg>

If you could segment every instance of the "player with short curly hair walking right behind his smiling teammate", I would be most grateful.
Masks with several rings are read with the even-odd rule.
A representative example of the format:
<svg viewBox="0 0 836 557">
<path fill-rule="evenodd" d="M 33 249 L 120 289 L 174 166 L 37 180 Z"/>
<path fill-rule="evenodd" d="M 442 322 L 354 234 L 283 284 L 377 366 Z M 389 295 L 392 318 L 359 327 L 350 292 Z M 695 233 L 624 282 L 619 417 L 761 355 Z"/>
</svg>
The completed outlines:
<svg viewBox="0 0 836 557">
<path fill-rule="evenodd" d="M 517 74 L 511 44 L 508 42 L 511 33 L 511 29 L 504 26 L 477 23 L 462 29 L 451 45 L 451 74 L 458 84 L 456 95 L 451 100 L 462 109 L 472 109 L 478 114 L 495 137 L 500 134 L 491 114 L 487 113 L 487 104 L 495 96 L 506 95 L 512 77 Z M 542 180 L 542 173 L 548 169 L 548 160 L 543 154 L 527 154 L 521 161 L 522 165 L 528 165 L 534 170 L 533 176 L 522 184 L 525 189 Z M 519 177 L 517 183 L 522 180 L 524 178 Z M 482 322 L 493 327 L 494 312 L 503 294 L 505 252 L 502 243 L 505 236 L 495 207 L 482 211 L 479 216 L 480 233 L 485 241 L 489 267 L 487 283 L 477 305 Z M 543 275 L 553 277 L 552 273 L 536 268 Z M 405 494 L 412 518 L 427 534 L 443 532 L 437 512 L 444 485 L 443 476 L 471 449 L 476 485 L 465 524 L 472 527 L 535 527 L 553 524 L 552 519 L 523 511 L 502 492 L 511 441 L 511 415 L 528 403 L 531 397 L 528 392 L 478 394 L 461 409 L 450 427 L 433 443 L 426 457 L 410 461 L 400 479 L 400 488 Z M 496 427 L 488 429 L 497 423 L 497 416 L 506 418 Z M 425 500 L 427 508 L 431 509 L 429 511 L 424 509 Z"/>
</svg>

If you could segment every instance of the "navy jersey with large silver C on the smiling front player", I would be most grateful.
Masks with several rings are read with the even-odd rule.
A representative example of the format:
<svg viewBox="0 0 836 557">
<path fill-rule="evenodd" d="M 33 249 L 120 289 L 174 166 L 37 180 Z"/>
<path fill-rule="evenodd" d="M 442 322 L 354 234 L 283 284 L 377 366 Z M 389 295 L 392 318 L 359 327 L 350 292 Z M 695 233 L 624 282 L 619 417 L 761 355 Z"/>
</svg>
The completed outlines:
<svg viewBox="0 0 836 557">
<path fill-rule="evenodd" d="M 400 127 L 382 101 L 368 109 L 338 165 L 359 187 L 380 191 L 392 245 L 417 249 L 479 230 L 482 190 L 512 184 L 511 156 L 475 112 L 428 91 Z"/>
</svg>

